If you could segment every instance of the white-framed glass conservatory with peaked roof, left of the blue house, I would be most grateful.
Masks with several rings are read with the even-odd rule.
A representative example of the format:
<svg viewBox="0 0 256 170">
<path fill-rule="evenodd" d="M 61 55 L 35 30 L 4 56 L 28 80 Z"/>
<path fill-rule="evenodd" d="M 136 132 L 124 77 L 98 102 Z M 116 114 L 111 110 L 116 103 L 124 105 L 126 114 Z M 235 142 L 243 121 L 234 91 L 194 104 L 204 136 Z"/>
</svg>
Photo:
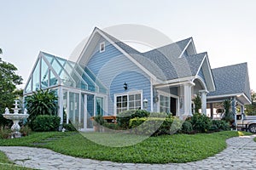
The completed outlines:
<svg viewBox="0 0 256 170">
<path fill-rule="evenodd" d="M 54 90 L 61 123 L 72 122 L 80 130 L 92 129 L 91 116 L 107 111 L 108 89 L 87 67 L 44 52 L 32 69 L 24 97 L 39 89 Z"/>
</svg>

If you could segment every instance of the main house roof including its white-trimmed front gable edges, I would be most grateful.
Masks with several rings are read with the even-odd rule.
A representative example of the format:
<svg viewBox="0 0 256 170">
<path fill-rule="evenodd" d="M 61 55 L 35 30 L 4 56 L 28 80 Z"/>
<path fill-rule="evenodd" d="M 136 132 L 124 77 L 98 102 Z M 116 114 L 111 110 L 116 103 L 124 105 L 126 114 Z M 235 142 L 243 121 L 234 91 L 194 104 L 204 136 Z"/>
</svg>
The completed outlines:
<svg viewBox="0 0 256 170">
<path fill-rule="evenodd" d="M 147 73 L 149 77 L 152 77 L 155 81 L 160 83 L 166 83 L 166 81 L 168 82 L 179 78 L 195 77 L 205 55 L 193 54 L 196 52 L 192 37 L 145 53 L 140 53 L 124 42 L 109 35 L 107 32 L 96 28 L 91 34 L 79 58 L 80 65 L 86 65 L 88 62 L 92 53 L 89 44 L 92 43 L 92 46 L 95 45 L 97 38 L 99 38 L 96 37 L 97 35 L 104 37 L 107 41 L 112 43 L 121 53 L 125 54 L 128 59 L 131 59 L 132 62 Z M 189 50 L 192 51 L 193 55 L 185 54 L 188 47 L 190 47 Z M 89 50 L 87 50 L 87 48 L 89 48 Z"/>
</svg>

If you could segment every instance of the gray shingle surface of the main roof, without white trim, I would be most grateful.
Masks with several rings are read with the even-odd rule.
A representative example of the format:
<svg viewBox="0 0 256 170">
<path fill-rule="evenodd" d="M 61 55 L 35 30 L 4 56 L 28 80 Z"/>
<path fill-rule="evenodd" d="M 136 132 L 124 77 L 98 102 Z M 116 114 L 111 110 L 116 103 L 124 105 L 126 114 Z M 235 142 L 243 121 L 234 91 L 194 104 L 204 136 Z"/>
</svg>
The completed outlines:
<svg viewBox="0 0 256 170">
<path fill-rule="evenodd" d="M 119 48 L 122 48 L 127 54 L 130 54 L 133 59 L 136 59 L 140 65 L 143 65 L 145 69 L 160 80 L 195 76 L 206 55 L 206 53 L 191 56 L 183 55 L 182 58 L 178 58 L 192 37 L 160 48 L 155 48 L 145 53 L 140 53 L 124 42 L 109 35 L 107 32 L 102 32 L 116 43 Z"/>
</svg>

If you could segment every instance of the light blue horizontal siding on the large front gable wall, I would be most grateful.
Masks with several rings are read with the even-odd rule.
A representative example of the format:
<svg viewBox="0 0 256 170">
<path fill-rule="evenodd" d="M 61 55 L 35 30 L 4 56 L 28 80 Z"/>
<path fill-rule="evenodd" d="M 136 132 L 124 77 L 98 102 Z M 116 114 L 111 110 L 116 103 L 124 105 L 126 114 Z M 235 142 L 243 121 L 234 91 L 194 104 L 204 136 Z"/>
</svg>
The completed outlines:
<svg viewBox="0 0 256 170">
<path fill-rule="evenodd" d="M 102 53 L 99 52 L 101 42 L 105 42 Z M 124 82 L 128 84 L 128 90 L 143 90 L 143 99 L 148 99 L 150 111 L 150 78 L 113 44 L 101 38 L 86 66 L 108 88 L 108 115 L 114 113 L 113 94 L 124 93 Z"/>
</svg>

